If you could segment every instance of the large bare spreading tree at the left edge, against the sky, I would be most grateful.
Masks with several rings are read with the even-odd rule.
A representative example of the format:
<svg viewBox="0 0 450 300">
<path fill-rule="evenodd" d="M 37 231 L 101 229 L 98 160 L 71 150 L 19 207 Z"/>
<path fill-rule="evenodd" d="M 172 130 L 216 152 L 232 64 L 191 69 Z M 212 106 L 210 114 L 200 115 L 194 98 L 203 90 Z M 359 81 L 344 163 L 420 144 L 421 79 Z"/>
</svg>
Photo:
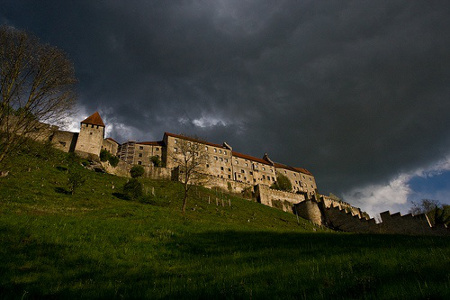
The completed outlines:
<svg viewBox="0 0 450 300">
<path fill-rule="evenodd" d="M 13 27 L 0 27 L 0 163 L 43 123 L 61 124 L 75 103 L 66 54 Z"/>
</svg>

